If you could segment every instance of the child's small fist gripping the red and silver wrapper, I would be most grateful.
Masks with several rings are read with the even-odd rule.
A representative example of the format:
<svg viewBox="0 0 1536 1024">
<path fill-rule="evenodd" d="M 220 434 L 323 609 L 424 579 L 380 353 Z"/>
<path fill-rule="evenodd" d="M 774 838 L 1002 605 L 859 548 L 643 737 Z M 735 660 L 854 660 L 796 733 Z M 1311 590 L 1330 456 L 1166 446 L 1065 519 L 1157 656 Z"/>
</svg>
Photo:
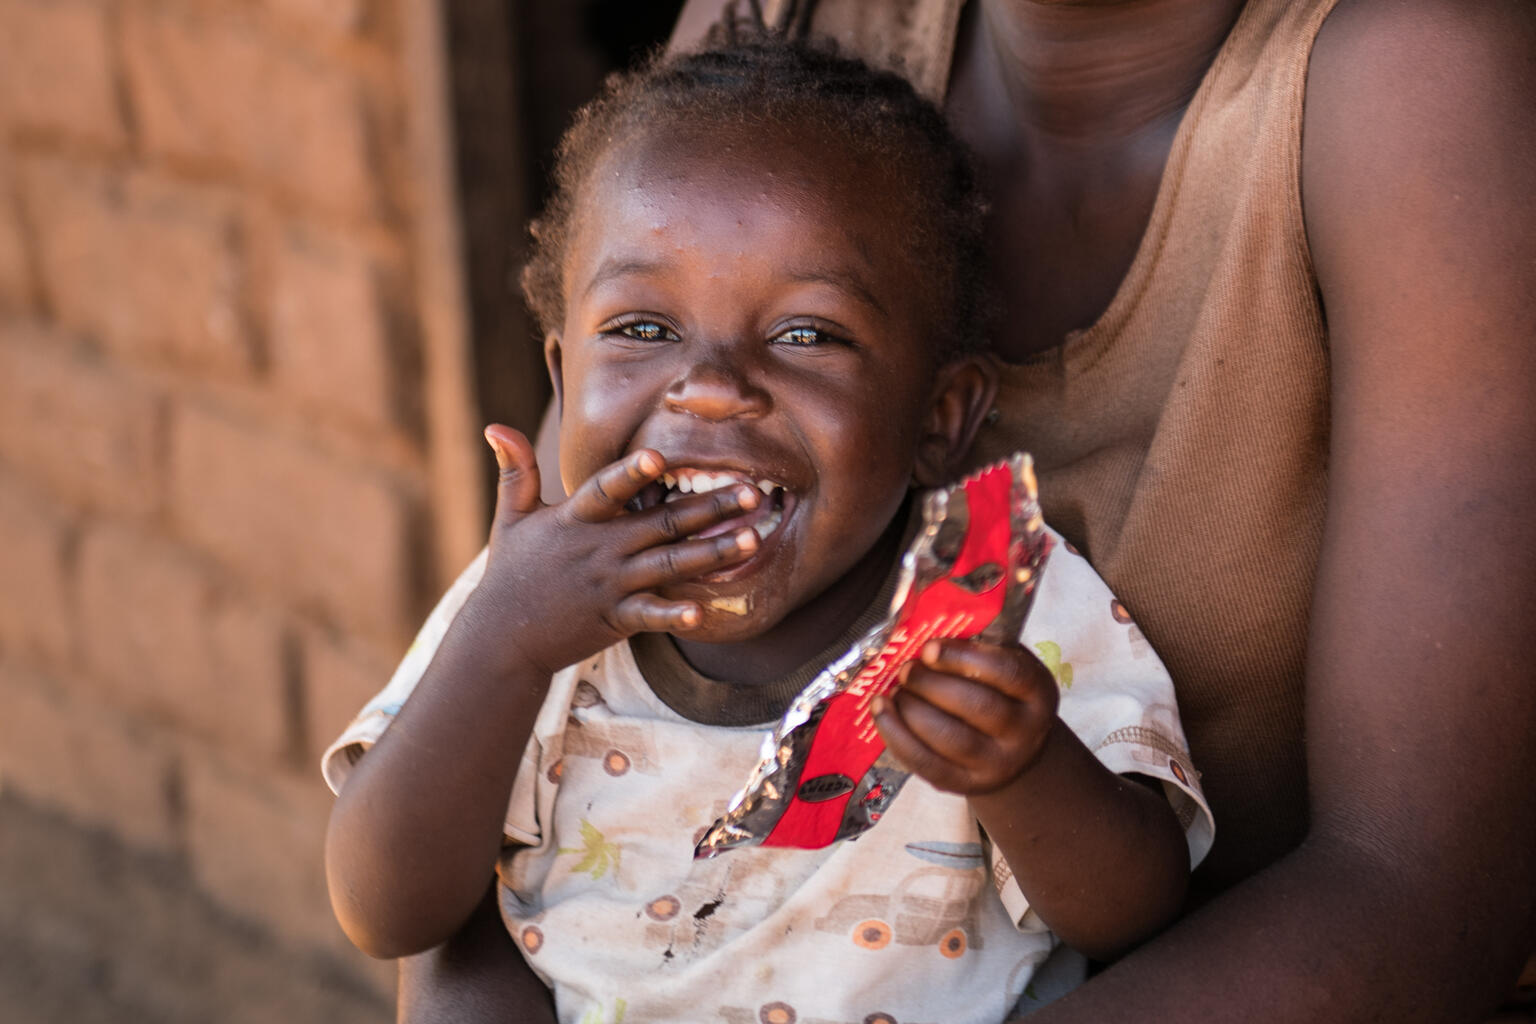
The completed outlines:
<svg viewBox="0 0 1536 1024">
<path fill-rule="evenodd" d="M 871 711 L 895 760 L 937 789 L 972 797 L 1029 771 L 1058 700 L 1049 669 L 1018 645 L 929 640 Z"/>
</svg>

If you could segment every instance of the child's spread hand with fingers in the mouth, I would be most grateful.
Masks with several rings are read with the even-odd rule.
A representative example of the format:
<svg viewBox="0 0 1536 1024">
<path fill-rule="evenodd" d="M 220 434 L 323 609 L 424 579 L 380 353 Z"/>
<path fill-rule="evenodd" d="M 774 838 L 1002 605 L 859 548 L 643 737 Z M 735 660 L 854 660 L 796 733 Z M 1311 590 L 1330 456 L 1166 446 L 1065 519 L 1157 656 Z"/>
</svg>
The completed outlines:
<svg viewBox="0 0 1536 1024">
<path fill-rule="evenodd" d="M 624 637 L 699 625 L 691 600 L 668 600 L 668 583 L 723 570 L 757 550 L 757 534 L 696 534 L 756 508 L 762 494 L 722 487 L 644 511 L 628 504 L 667 468 L 660 453 L 634 451 L 604 467 L 559 505 L 539 500 L 533 445 L 516 430 L 485 428 L 501 473 L 485 576 L 472 600 L 490 608 L 487 628 L 541 671 L 554 671 Z"/>
</svg>

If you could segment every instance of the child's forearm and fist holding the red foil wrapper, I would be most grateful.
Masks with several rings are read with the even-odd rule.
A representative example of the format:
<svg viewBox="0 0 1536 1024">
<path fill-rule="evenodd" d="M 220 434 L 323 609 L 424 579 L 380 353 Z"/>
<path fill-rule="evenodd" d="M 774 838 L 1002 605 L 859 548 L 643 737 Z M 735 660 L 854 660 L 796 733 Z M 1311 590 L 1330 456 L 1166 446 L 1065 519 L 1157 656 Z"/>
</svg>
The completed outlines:
<svg viewBox="0 0 1536 1024">
<path fill-rule="evenodd" d="M 965 794 L 1031 907 L 1112 960 L 1177 915 L 1189 849 L 1161 794 L 1115 775 L 1057 717 L 1055 679 L 1021 646 L 929 640 L 876 700 L 891 754 Z"/>
</svg>

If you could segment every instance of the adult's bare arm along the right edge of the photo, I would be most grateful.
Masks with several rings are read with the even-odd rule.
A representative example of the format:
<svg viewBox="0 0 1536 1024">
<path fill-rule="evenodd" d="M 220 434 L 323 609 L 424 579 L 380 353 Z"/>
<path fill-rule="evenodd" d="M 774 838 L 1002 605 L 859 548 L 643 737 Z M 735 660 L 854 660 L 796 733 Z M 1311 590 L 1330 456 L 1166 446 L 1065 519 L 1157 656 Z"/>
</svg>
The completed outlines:
<svg viewBox="0 0 1536 1024">
<path fill-rule="evenodd" d="M 1032 1021 L 1478 1021 L 1511 990 L 1536 944 L 1533 100 L 1528 3 L 1344 0 L 1326 23 L 1310 831 Z"/>
</svg>

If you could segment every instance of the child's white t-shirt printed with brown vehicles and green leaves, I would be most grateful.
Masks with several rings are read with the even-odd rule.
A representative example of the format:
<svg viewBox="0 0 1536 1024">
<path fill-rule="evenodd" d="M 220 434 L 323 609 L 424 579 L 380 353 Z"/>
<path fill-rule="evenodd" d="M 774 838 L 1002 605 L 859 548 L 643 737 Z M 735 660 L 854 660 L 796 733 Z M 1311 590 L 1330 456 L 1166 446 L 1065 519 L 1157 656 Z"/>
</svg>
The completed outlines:
<svg viewBox="0 0 1536 1024">
<path fill-rule="evenodd" d="M 484 557 L 326 752 L 333 789 L 409 697 L 482 570 Z M 1104 765 L 1163 781 L 1198 863 L 1213 831 L 1172 683 L 1060 539 L 1021 642 Z M 915 777 L 857 840 L 694 861 L 762 735 L 673 711 L 630 643 L 554 677 L 508 801 L 499 877 L 502 917 L 561 1021 L 982 1022 L 1071 983 L 1071 969 L 1035 976 L 1055 941 L 965 798 Z"/>
</svg>

